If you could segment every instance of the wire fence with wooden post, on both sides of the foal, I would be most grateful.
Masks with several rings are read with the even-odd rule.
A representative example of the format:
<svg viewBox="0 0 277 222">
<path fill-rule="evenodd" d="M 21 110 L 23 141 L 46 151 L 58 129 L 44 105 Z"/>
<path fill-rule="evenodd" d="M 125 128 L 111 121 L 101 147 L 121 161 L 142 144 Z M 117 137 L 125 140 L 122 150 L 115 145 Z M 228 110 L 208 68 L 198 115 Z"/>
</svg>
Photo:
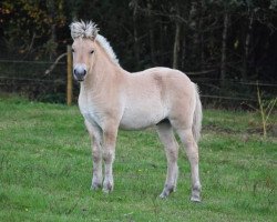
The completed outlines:
<svg viewBox="0 0 277 222">
<path fill-rule="evenodd" d="M 66 58 L 66 59 L 65 59 Z M 271 100 L 277 94 L 277 83 L 256 81 L 225 80 L 217 73 L 203 73 L 191 79 L 199 85 L 204 105 L 237 108 L 242 104 L 257 103 L 257 87 L 264 100 Z M 227 83 L 226 83 L 227 82 Z M 76 101 L 79 87 L 72 81 L 71 48 L 57 61 L 13 61 L 0 60 L 0 91 L 19 93 L 31 100 L 62 102 L 69 105 Z"/>
</svg>

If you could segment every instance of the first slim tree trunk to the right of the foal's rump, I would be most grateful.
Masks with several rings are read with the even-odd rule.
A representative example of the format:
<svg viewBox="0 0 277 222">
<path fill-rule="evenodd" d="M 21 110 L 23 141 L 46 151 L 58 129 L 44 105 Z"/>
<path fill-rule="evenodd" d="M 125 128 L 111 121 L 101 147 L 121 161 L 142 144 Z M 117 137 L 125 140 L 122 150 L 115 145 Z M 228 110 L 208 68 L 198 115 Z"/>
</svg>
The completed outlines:
<svg viewBox="0 0 277 222">
<path fill-rule="evenodd" d="M 224 13 L 224 22 L 223 22 L 223 40 L 222 40 L 222 63 L 220 63 L 220 85 L 225 87 L 226 83 L 226 52 L 227 52 L 227 34 L 228 34 L 228 26 L 229 26 L 229 16 L 228 12 Z"/>
</svg>

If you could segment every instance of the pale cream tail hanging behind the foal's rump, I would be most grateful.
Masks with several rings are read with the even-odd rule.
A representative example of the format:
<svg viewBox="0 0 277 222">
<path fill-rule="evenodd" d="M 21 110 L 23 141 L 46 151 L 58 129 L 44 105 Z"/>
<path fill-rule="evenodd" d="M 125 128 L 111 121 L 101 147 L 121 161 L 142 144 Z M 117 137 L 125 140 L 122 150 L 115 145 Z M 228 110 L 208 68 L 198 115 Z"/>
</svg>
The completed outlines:
<svg viewBox="0 0 277 222">
<path fill-rule="evenodd" d="M 194 117 L 193 117 L 193 137 L 196 142 L 201 139 L 201 128 L 202 128 L 202 103 L 199 98 L 199 91 L 197 84 L 195 84 L 195 99 L 196 99 L 196 105 L 194 110 Z"/>
</svg>

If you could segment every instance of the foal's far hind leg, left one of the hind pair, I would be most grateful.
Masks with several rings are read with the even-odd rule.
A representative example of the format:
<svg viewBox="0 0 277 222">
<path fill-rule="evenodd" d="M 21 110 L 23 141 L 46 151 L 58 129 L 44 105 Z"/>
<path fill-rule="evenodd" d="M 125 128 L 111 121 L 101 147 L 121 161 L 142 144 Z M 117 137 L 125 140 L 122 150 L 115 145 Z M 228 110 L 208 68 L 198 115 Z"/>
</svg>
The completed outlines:
<svg viewBox="0 0 277 222">
<path fill-rule="evenodd" d="M 157 133 L 160 140 L 164 144 L 166 159 L 167 159 L 167 174 L 164 184 L 164 190 L 161 193 L 161 198 L 167 198 L 171 192 L 176 190 L 177 176 L 178 176 L 178 144 L 173 133 L 172 125 L 168 120 L 165 120 L 157 124 Z"/>
</svg>

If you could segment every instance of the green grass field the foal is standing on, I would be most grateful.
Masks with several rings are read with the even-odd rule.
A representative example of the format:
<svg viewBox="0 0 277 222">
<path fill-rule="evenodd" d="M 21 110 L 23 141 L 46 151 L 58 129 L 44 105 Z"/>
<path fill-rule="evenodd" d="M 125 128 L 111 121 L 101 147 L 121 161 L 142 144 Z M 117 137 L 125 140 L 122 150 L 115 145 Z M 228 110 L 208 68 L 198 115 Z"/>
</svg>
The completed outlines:
<svg viewBox="0 0 277 222">
<path fill-rule="evenodd" d="M 258 113 L 204 111 L 199 204 L 183 150 L 177 191 L 161 200 L 166 160 L 155 131 L 122 131 L 107 195 L 90 190 L 76 107 L 0 99 L 0 221 L 276 221 L 277 140 L 260 128 Z"/>
</svg>

